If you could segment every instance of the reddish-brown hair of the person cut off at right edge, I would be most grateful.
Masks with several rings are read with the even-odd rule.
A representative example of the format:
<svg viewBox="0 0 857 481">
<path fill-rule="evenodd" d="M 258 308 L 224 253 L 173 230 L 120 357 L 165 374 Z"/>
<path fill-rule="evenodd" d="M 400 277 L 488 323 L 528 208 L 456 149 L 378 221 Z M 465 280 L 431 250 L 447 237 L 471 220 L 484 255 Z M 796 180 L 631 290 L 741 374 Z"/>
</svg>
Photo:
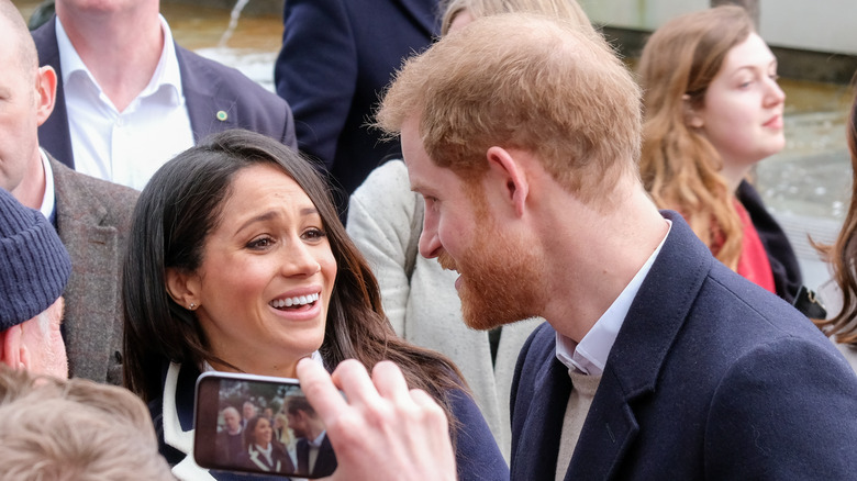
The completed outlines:
<svg viewBox="0 0 857 481">
<path fill-rule="evenodd" d="M 852 155 L 852 201 L 842 231 L 832 246 L 816 248 L 833 266 L 833 279 L 842 290 L 842 310 L 830 320 L 813 320 L 837 343 L 857 346 L 857 76 L 852 81 L 855 99 L 848 119 L 848 150 Z"/>
</svg>

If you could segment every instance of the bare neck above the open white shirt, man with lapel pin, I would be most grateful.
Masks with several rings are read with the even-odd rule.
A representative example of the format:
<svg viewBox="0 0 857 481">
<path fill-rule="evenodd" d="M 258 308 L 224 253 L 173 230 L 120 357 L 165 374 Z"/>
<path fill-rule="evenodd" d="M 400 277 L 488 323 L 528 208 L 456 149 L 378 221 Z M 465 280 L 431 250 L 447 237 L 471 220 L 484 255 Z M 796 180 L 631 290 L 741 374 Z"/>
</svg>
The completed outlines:
<svg viewBox="0 0 857 481">
<path fill-rule="evenodd" d="M 71 45 L 120 112 L 146 88 L 164 49 L 157 3 L 138 3 L 129 11 L 98 12 L 57 4 Z"/>
</svg>

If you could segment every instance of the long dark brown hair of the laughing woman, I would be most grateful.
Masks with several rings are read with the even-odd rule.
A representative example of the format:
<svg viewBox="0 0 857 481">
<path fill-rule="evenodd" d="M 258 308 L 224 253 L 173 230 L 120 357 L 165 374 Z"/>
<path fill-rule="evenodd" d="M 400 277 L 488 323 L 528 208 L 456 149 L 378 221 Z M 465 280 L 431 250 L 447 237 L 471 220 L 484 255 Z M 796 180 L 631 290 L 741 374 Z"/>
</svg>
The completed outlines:
<svg viewBox="0 0 857 481">
<path fill-rule="evenodd" d="M 140 195 L 122 279 L 125 387 L 148 402 L 163 395 L 166 361 L 227 363 L 213 357 L 194 313 L 167 294 L 166 271 L 199 268 L 205 238 L 220 222 L 235 174 L 259 164 L 282 170 L 307 192 L 336 259 L 320 348 L 325 366 L 333 369 L 354 358 L 371 369 L 390 359 L 402 369 L 409 387 L 431 393 L 452 415 L 447 392 L 466 389 L 460 372 L 442 355 L 396 335 L 383 314 L 378 282 L 345 233 L 319 172 L 282 144 L 238 130 L 215 134 L 179 154 L 155 172 Z M 450 423 L 455 425 L 452 416 Z"/>
</svg>

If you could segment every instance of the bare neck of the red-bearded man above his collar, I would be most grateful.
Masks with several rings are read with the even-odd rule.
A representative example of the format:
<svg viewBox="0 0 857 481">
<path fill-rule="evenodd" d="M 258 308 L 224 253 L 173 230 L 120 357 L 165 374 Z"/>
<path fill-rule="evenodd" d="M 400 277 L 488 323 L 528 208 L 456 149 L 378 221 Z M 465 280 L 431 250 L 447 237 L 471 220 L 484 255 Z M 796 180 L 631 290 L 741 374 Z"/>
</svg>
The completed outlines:
<svg viewBox="0 0 857 481">
<path fill-rule="evenodd" d="M 636 184 L 636 182 L 634 182 Z M 627 187 L 627 186 L 625 186 Z M 608 212 L 557 211 L 552 227 L 548 292 L 543 317 L 579 343 L 648 260 L 669 227 L 642 187 L 617 188 L 626 198 Z M 567 203 L 565 205 L 568 205 Z M 578 204 L 578 208 L 581 205 Z"/>
</svg>

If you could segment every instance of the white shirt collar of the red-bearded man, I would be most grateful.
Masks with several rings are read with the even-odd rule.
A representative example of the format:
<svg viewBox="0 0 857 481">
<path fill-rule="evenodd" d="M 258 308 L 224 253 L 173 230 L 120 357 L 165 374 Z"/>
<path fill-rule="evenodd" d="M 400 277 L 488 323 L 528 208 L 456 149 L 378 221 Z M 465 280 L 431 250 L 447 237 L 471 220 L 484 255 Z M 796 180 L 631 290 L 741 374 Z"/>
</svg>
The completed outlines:
<svg viewBox="0 0 857 481">
<path fill-rule="evenodd" d="M 601 376 L 604 372 L 608 356 L 616 342 L 622 324 L 625 322 L 631 303 L 634 302 L 639 287 L 646 279 L 648 271 L 652 270 L 652 265 L 655 264 L 655 259 L 660 253 L 660 248 L 664 247 L 664 243 L 667 236 L 669 236 L 669 231 L 672 228 L 672 222 L 668 219 L 665 221 L 669 226 L 667 235 L 660 239 L 660 244 L 658 244 L 655 251 L 652 253 L 643 267 L 634 275 L 631 282 L 625 286 L 622 293 L 619 294 L 592 328 L 580 339 L 580 343 L 576 345 L 571 338 L 556 333 L 556 357 L 569 370 L 577 370 L 589 376 Z"/>
</svg>

